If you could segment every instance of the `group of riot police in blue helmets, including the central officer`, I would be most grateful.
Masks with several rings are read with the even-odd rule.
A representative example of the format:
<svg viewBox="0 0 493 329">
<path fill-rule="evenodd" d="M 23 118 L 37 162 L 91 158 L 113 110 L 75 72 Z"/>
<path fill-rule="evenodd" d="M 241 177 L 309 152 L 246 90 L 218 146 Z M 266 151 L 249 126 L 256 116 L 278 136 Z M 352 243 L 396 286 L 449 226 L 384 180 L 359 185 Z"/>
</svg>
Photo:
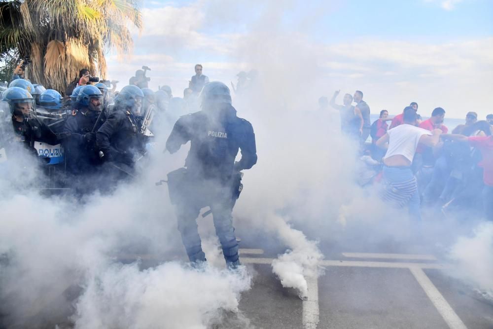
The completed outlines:
<svg viewBox="0 0 493 329">
<path fill-rule="evenodd" d="M 23 152 L 16 158 L 18 150 L 28 150 L 28 156 L 42 162 L 40 167 L 50 168 L 47 173 L 58 166 L 57 186 L 83 200 L 96 190 L 110 192 L 117 182 L 134 180 L 153 138 L 169 136 L 165 151 L 171 154 L 190 142 L 184 167 L 170 172 L 167 181 L 185 250 L 192 264 L 206 261 L 196 218 L 209 206 L 226 264 L 237 268 L 241 263 L 231 214 L 243 186 L 241 172 L 257 161 L 253 128 L 237 116 L 230 89 L 209 81 L 202 65 L 195 66 L 183 98 L 173 97 L 169 86 L 148 88 L 145 72 L 150 69 L 142 69 L 120 91 L 118 81 L 99 81 L 82 69 L 65 97 L 32 84 L 16 70 L 1 94 L 0 165 L 31 162 Z M 242 157 L 235 162 L 239 150 Z"/>
</svg>

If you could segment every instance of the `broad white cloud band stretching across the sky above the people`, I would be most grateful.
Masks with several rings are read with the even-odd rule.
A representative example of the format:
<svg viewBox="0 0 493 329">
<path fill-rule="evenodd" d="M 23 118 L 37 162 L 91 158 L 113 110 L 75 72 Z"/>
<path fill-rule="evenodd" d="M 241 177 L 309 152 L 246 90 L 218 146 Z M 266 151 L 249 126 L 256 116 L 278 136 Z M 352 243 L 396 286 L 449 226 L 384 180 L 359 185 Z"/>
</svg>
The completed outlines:
<svg viewBox="0 0 493 329">
<path fill-rule="evenodd" d="M 122 63 L 108 60 L 111 75 L 128 81 L 147 65 L 153 70 L 152 87 L 168 84 L 179 95 L 193 66 L 201 62 L 211 80 L 228 84 L 236 81 L 239 71 L 256 68 L 271 76 L 269 84 L 286 97 L 301 94 L 316 100 L 332 88 L 360 89 L 373 106 L 391 113 L 410 100 L 420 102 L 423 110 L 442 106 L 456 117 L 470 108 L 484 111 L 480 116 L 489 111 L 483 95 L 493 92 L 493 37 L 438 43 L 367 38 L 323 44 L 299 31 L 284 32 L 282 15 L 272 16 L 270 11 L 252 18 L 245 32 L 230 33 L 236 30 L 230 23 L 218 25 L 221 20 L 214 19 L 204 3 L 145 9 L 142 36 L 135 38 L 137 55 Z M 216 33 L 204 32 L 211 30 Z"/>
</svg>

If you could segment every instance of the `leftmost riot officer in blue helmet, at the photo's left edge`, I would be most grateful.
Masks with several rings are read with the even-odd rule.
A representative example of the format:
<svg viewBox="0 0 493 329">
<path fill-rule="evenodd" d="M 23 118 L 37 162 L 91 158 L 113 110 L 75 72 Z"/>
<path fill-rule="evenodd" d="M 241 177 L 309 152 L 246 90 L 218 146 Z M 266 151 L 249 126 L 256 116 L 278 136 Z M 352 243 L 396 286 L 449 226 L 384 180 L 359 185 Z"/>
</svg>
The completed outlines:
<svg viewBox="0 0 493 329">
<path fill-rule="evenodd" d="M 24 143 L 36 155 L 35 141 L 57 144 L 55 134 L 35 117 L 35 99 L 26 89 L 10 87 L 3 92 L 2 99 L 9 105 L 16 141 Z"/>
</svg>

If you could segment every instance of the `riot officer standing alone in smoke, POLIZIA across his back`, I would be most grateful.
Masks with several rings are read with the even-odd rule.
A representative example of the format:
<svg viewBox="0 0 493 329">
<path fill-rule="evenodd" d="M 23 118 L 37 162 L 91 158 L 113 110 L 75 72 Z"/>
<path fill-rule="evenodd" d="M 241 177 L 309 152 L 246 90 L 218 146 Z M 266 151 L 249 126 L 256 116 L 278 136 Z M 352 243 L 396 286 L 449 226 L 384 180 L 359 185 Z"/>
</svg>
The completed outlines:
<svg viewBox="0 0 493 329">
<path fill-rule="evenodd" d="M 226 264 L 240 265 L 232 210 L 241 190 L 243 169 L 257 162 L 255 135 L 251 124 L 236 115 L 229 88 L 210 82 L 201 93 L 202 110 L 180 117 L 166 148 L 175 153 L 191 141 L 185 168 L 168 174 L 170 199 L 176 205 L 178 230 L 191 262 L 205 261 L 196 218 L 210 206 Z M 242 158 L 235 163 L 238 150 Z"/>
</svg>

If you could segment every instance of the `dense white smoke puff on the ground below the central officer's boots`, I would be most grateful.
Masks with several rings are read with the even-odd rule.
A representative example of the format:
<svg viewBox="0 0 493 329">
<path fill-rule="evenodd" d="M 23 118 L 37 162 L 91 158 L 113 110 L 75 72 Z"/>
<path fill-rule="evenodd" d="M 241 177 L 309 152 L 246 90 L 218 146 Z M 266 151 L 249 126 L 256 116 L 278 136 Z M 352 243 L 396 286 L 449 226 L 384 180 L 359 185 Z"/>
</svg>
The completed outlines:
<svg viewBox="0 0 493 329">
<path fill-rule="evenodd" d="M 75 328 L 207 328 L 219 309 L 237 313 L 239 294 L 249 287 L 245 267 L 197 271 L 167 262 L 141 271 L 136 263 L 114 264 L 89 278 Z"/>
</svg>

